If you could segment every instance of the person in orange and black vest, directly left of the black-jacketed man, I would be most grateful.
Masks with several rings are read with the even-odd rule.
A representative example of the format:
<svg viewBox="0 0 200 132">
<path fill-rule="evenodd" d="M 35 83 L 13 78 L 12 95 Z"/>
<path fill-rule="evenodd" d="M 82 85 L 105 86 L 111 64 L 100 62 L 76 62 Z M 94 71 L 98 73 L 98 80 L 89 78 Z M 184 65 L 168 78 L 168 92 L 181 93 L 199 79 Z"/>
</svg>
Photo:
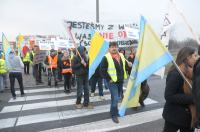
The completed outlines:
<svg viewBox="0 0 200 132">
<path fill-rule="evenodd" d="M 71 68 L 71 59 L 70 59 L 68 50 L 64 52 L 64 55 L 62 57 L 61 68 L 62 68 L 62 74 L 64 76 L 64 92 L 70 93 L 72 68 Z"/>
</svg>

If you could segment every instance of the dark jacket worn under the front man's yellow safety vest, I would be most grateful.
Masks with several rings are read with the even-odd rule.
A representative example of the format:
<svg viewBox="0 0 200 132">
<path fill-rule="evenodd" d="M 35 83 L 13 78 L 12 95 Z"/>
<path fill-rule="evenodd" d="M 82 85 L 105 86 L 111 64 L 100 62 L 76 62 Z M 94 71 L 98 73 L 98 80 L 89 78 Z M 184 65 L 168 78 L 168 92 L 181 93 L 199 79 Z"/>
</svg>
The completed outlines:
<svg viewBox="0 0 200 132">
<path fill-rule="evenodd" d="M 113 59 L 114 64 L 115 64 L 115 68 L 117 71 L 117 82 L 123 82 L 124 81 L 124 70 L 123 70 L 123 63 L 122 63 L 122 59 L 120 59 L 120 63 L 117 62 L 117 60 Z M 127 62 L 125 63 L 125 67 L 128 67 Z M 104 56 L 104 58 L 101 61 L 100 64 L 100 72 L 101 72 L 101 77 L 110 81 L 111 77 L 107 72 L 108 69 L 108 61 L 107 58 Z"/>
</svg>

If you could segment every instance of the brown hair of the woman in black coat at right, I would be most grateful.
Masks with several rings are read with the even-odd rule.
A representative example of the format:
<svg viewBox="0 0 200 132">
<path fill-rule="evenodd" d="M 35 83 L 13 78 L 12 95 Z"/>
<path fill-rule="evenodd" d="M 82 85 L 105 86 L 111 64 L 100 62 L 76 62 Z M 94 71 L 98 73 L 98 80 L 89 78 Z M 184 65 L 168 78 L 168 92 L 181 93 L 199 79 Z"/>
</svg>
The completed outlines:
<svg viewBox="0 0 200 132">
<path fill-rule="evenodd" d="M 187 57 L 191 56 L 192 54 L 194 54 L 196 51 L 196 49 L 194 47 L 190 47 L 190 46 L 187 46 L 187 47 L 183 47 L 177 54 L 177 57 L 176 57 L 176 64 L 179 66 L 183 63 L 186 63 L 186 60 L 187 60 Z M 174 65 L 172 65 L 170 67 L 170 70 L 173 70 L 175 68 Z"/>
</svg>

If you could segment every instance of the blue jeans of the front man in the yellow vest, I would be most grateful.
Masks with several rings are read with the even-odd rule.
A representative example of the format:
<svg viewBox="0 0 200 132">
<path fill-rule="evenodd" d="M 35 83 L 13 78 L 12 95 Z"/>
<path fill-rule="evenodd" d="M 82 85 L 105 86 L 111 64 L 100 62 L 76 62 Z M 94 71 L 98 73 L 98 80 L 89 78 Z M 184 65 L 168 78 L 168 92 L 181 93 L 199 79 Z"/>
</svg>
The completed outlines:
<svg viewBox="0 0 200 132">
<path fill-rule="evenodd" d="M 112 117 L 117 117 L 118 116 L 118 101 L 120 98 L 119 91 L 123 87 L 123 82 L 116 82 L 116 83 L 108 82 L 108 87 L 111 94 L 110 114 Z"/>
</svg>

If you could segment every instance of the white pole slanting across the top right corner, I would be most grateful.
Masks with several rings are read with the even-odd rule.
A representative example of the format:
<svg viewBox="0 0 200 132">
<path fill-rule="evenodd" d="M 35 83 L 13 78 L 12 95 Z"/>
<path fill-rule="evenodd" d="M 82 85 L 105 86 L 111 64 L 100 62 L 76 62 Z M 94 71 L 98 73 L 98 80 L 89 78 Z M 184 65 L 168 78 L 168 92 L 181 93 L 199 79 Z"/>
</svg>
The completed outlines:
<svg viewBox="0 0 200 132">
<path fill-rule="evenodd" d="M 197 37 L 197 35 L 195 34 L 195 32 L 193 31 L 192 27 L 190 26 L 190 24 L 188 23 L 186 17 L 183 15 L 183 13 L 177 8 L 176 4 L 173 2 L 173 0 L 170 0 L 170 2 L 174 5 L 174 8 L 177 10 L 177 12 L 180 14 L 180 16 L 182 17 L 183 21 L 185 22 L 186 26 L 188 27 L 188 29 L 190 30 L 190 32 L 192 33 L 194 39 L 197 41 L 198 45 L 200 45 L 200 41 Z"/>
</svg>

